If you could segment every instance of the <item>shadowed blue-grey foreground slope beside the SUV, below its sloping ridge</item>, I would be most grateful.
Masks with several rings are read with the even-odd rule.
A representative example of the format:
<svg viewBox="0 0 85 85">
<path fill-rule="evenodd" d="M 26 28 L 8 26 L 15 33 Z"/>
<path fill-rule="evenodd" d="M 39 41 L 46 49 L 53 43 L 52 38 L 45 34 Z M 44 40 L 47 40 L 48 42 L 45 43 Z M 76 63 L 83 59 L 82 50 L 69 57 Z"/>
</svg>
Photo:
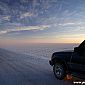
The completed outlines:
<svg viewBox="0 0 85 85">
<path fill-rule="evenodd" d="M 73 85 L 57 80 L 48 59 L 0 49 L 0 85 Z"/>
</svg>

